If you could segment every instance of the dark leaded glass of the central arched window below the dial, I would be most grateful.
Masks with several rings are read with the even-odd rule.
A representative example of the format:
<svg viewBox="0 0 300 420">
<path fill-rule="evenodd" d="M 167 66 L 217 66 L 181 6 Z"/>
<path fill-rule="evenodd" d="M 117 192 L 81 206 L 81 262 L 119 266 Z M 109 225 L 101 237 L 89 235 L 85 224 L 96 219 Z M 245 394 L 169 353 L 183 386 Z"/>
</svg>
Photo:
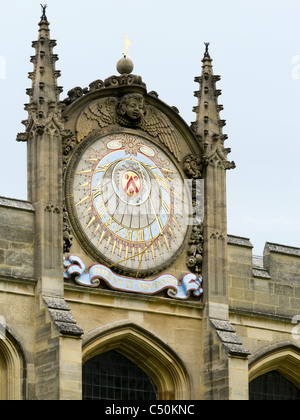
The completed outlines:
<svg viewBox="0 0 300 420">
<path fill-rule="evenodd" d="M 88 360 L 82 370 L 84 400 L 156 400 L 151 378 L 115 350 Z"/>
</svg>

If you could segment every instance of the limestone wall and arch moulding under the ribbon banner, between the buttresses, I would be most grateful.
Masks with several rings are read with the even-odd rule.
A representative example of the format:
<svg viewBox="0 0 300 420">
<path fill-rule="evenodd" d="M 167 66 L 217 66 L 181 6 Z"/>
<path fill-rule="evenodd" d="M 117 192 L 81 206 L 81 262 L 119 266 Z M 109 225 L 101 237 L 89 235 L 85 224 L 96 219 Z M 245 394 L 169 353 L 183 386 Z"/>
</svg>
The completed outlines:
<svg viewBox="0 0 300 420">
<path fill-rule="evenodd" d="M 87 289 L 71 282 L 65 286 L 65 299 L 84 330 L 83 362 L 85 358 L 116 348 L 151 374 L 152 379 L 156 378 L 158 388 L 163 373 L 163 386 L 158 389 L 161 398 L 203 398 L 200 383 L 203 305 L 200 302 L 145 298 Z M 140 329 L 140 334 L 135 334 L 135 329 Z M 93 337 L 92 344 L 88 337 Z M 174 360 L 172 355 L 176 355 Z M 191 382 L 186 381 L 183 371 L 188 372 Z M 174 384 L 179 388 L 177 394 Z"/>
</svg>

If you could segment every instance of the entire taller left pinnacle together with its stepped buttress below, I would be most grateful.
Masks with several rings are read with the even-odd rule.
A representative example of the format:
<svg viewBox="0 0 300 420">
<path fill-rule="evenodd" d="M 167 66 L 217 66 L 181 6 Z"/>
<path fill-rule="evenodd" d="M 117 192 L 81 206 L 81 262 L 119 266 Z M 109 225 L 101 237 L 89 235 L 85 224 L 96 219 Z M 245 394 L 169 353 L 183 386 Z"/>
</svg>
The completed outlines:
<svg viewBox="0 0 300 420">
<path fill-rule="evenodd" d="M 72 385 L 61 378 L 80 378 L 82 365 L 80 358 L 71 365 L 69 361 L 65 363 L 63 355 L 67 354 L 67 348 L 77 349 L 74 351 L 80 354 L 78 337 L 83 331 L 74 322 L 69 323 L 74 318 L 68 314 L 64 300 L 62 142 L 66 132 L 59 99 L 62 89 L 57 86 L 60 72 L 55 69 L 58 57 L 53 54 L 56 41 L 50 38 L 46 6 L 42 8 L 38 40 L 32 44 L 34 70 L 29 73 L 32 87 L 27 90 L 30 102 L 25 107 L 28 111 L 28 120 L 24 121 L 26 132 L 19 134 L 17 140 L 27 141 L 28 200 L 35 210 L 36 398 L 63 400 L 70 399 Z M 65 321 L 66 317 L 67 323 L 57 322 L 58 319 Z M 45 358 L 47 348 L 51 348 L 51 354 Z M 80 388 L 77 388 L 72 399 L 81 398 Z"/>
</svg>

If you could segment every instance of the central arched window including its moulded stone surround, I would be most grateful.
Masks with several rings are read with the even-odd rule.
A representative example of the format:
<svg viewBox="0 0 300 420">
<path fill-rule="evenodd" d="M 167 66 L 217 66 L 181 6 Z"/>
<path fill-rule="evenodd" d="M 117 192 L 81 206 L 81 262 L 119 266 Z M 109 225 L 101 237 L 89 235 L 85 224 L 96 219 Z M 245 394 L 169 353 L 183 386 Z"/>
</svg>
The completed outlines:
<svg viewBox="0 0 300 420">
<path fill-rule="evenodd" d="M 139 377 L 139 380 L 145 381 L 145 388 L 150 387 L 150 383 L 152 383 L 152 390 L 148 389 L 152 392 L 151 399 L 188 400 L 191 398 L 189 374 L 182 360 L 166 343 L 141 326 L 132 322 L 128 323 L 127 320 L 119 321 L 101 326 L 86 334 L 83 337 L 82 355 L 84 375 L 86 375 L 90 360 L 90 363 L 93 363 L 97 356 L 111 357 L 113 354 L 114 357 L 124 357 L 125 361 L 122 359 L 126 364 L 126 366 L 123 366 L 124 372 L 125 370 L 128 372 L 133 368 L 132 365 L 134 366 L 135 375 Z M 123 379 L 125 384 L 126 379 Z M 123 379 L 122 374 L 121 379 L 116 379 L 115 375 L 114 381 L 120 383 Z M 89 377 L 88 381 L 91 380 L 97 381 L 96 378 Z M 87 379 L 83 378 L 83 381 L 87 383 Z M 125 386 L 122 385 L 123 387 L 125 394 Z M 130 389 L 131 387 L 128 388 L 128 390 Z M 144 398 L 148 397 L 149 395 L 145 393 Z"/>
</svg>

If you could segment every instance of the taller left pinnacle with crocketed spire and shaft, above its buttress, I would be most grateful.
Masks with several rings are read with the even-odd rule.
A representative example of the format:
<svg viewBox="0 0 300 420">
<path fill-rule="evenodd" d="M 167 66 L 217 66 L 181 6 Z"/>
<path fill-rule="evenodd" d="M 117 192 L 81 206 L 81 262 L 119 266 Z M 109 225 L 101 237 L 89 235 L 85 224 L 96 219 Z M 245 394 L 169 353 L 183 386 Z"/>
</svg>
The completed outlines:
<svg viewBox="0 0 300 420">
<path fill-rule="evenodd" d="M 27 141 L 28 200 L 35 208 L 37 232 L 35 272 L 41 290 L 51 296 L 63 293 L 60 283 L 63 269 L 64 122 L 59 99 L 62 88 L 57 86 L 60 72 L 55 69 L 58 57 L 53 54 L 55 45 L 56 41 L 50 38 L 46 6 L 42 5 L 38 40 L 32 43 L 35 55 L 31 57 L 34 69 L 29 73 L 32 87 L 27 89 L 30 102 L 25 105 L 28 120 L 23 121 L 26 132 L 19 134 L 17 140 Z M 50 278 L 53 279 L 51 284 L 46 280 Z"/>
</svg>

